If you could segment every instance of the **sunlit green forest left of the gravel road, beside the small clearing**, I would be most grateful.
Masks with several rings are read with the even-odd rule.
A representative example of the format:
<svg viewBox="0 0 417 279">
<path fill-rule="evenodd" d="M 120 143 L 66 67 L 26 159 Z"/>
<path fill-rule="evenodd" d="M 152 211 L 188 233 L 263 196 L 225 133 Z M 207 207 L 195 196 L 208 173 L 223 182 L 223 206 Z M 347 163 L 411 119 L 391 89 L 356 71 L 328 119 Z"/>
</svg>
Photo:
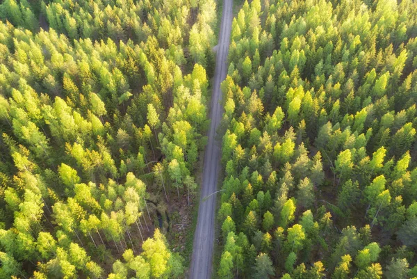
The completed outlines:
<svg viewBox="0 0 417 279">
<path fill-rule="evenodd" d="M 1 3 L 0 278 L 183 275 L 148 204 L 193 198 L 215 13 L 213 0 Z"/>
</svg>

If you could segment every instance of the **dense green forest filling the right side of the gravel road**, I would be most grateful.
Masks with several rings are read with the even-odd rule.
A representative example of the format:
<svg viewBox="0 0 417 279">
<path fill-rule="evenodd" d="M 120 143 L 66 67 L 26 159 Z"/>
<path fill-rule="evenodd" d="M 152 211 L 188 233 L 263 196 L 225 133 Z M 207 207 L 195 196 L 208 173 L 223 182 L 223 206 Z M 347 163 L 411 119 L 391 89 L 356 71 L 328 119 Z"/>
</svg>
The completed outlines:
<svg viewBox="0 0 417 279">
<path fill-rule="evenodd" d="M 417 276 L 416 17 L 409 0 L 243 4 L 219 278 Z"/>
</svg>

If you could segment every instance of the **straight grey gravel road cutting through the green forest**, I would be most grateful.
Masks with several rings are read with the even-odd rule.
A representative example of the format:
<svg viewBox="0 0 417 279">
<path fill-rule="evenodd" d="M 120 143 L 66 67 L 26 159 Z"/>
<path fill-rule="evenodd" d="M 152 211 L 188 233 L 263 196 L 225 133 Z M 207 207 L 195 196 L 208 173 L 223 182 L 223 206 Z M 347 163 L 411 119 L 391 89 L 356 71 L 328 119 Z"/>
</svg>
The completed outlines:
<svg viewBox="0 0 417 279">
<path fill-rule="evenodd" d="M 213 94 L 211 95 L 211 125 L 208 131 L 208 144 L 204 153 L 203 181 L 200 193 L 197 228 L 194 234 L 193 256 L 191 257 L 190 279 L 210 279 L 213 262 L 215 196 L 204 198 L 217 191 L 221 170 L 221 142 L 216 141 L 216 130 L 222 119 L 222 93 L 220 83 L 227 74 L 227 54 L 229 53 L 231 22 L 233 19 L 233 0 L 223 1 L 222 23 L 215 58 Z"/>
</svg>

